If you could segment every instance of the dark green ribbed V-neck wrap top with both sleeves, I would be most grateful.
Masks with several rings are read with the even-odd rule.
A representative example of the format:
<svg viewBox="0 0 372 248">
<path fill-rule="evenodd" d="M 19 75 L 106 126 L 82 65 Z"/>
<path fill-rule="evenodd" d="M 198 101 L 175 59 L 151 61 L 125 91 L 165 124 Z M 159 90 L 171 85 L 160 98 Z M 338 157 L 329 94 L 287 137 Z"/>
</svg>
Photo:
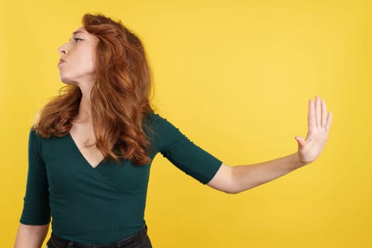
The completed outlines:
<svg viewBox="0 0 372 248">
<path fill-rule="evenodd" d="M 157 114 L 150 158 L 160 152 L 186 174 L 207 184 L 222 162 L 188 140 Z M 91 167 L 71 135 L 45 139 L 30 131 L 28 179 L 21 223 L 45 225 L 64 239 L 105 244 L 130 237 L 144 225 L 150 164 L 121 159 Z"/>
</svg>

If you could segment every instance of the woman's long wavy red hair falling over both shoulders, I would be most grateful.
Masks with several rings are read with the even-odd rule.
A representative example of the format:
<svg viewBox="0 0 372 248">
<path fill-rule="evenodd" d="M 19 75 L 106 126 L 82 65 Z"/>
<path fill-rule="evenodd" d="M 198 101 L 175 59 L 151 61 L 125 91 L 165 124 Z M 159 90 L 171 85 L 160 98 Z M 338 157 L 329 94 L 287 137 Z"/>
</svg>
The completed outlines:
<svg viewBox="0 0 372 248">
<path fill-rule="evenodd" d="M 137 36 L 121 21 L 86 13 L 82 24 L 96 35 L 96 82 L 91 90 L 91 117 L 96 147 L 104 159 L 129 159 L 134 164 L 148 164 L 151 142 L 147 113 L 150 106 L 151 73 L 144 47 Z M 76 85 L 62 87 L 59 96 L 47 103 L 33 125 L 40 136 L 62 137 L 72 128 L 79 112 L 81 91 Z M 116 140 L 118 150 L 111 149 Z"/>
</svg>

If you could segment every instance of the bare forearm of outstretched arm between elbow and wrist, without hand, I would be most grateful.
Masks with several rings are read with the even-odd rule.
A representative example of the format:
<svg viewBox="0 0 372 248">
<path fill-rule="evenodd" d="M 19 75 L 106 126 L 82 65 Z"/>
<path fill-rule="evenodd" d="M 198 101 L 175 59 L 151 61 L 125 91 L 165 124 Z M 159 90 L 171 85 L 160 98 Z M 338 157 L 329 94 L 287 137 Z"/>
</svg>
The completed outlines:
<svg viewBox="0 0 372 248">
<path fill-rule="evenodd" d="M 252 165 L 240 165 L 231 168 L 233 192 L 238 193 L 277 179 L 302 167 L 298 154 Z"/>
</svg>

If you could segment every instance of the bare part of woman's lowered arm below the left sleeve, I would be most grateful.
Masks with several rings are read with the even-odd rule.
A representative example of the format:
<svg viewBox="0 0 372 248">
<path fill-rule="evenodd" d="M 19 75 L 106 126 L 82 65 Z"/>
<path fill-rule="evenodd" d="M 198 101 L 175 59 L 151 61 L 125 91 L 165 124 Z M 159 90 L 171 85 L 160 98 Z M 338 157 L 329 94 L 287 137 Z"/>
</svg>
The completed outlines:
<svg viewBox="0 0 372 248">
<path fill-rule="evenodd" d="M 48 229 L 49 223 L 46 225 L 19 224 L 14 248 L 40 248 Z"/>
</svg>

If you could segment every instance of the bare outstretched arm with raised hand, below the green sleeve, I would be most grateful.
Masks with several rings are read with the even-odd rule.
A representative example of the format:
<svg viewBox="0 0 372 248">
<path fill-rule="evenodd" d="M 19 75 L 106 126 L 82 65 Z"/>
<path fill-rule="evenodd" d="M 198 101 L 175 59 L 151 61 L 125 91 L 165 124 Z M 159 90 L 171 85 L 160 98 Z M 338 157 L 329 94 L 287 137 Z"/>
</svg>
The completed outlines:
<svg viewBox="0 0 372 248">
<path fill-rule="evenodd" d="M 308 135 L 306 139 L 295 137 L 298 152 L 259 164 L 237 167 L 222 164 L 208 186 L 227 193 L 239 193 L 310 164 L 325 147 L 331 123 L 332 113 L 327 114 L 325 101 L 315 97 L 315 102 L 309 101 Z"/>
</svg>

